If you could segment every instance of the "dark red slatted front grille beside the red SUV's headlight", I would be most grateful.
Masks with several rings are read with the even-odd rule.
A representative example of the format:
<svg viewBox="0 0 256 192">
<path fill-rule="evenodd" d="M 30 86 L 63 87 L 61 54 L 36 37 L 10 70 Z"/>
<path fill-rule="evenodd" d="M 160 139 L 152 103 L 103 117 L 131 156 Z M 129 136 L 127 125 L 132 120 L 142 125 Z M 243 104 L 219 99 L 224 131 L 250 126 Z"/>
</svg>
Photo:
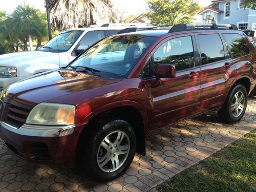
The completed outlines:
<svg viewBox="0 0 256 192">
<path fill-rule="evenodd" d="M 7 122 L 15 127 L 20 127 L 25 124 L 29 112 L 29 109 L 11 104 L 8 108 Z"/>
</svg>

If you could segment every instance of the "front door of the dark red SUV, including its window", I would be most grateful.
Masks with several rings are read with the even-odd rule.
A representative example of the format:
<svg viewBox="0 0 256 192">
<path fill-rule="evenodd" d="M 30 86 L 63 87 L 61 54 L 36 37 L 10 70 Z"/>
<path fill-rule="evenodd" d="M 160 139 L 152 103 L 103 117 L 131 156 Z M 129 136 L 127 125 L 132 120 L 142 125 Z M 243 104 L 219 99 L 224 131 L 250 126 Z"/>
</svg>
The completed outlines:
<svg viewBox="0 0 256 192">
<path fill-rule="evenodd" d="M 159 63 L 173 63 L 176 77 L 147 80 L 148 124 L 156 129 L 199 113 L 200 67 L 195 62 L 193 35 L 176 36 L 160 44 L 152 53 L 154 69 Z"/>
</svg>

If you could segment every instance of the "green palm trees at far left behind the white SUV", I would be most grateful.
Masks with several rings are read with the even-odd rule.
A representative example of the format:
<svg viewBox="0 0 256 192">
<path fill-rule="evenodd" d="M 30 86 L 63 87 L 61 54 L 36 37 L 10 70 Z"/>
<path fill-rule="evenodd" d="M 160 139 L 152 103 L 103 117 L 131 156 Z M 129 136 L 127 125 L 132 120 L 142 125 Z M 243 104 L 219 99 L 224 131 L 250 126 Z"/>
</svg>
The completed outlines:
<svg viewBox="0 0 256 192">
<path fill-rule="evenodd" d="M 39 42 L 47 35 L 46 16 L 29 5 L 18 5 L 6 19 L 0 21 L 0 34 L 0 42 L 7 40 L 13 51 L 18 51 L 20 41 L 24 45 L 23 50 L 26 51 L 29 36 Z"/>
</svg>

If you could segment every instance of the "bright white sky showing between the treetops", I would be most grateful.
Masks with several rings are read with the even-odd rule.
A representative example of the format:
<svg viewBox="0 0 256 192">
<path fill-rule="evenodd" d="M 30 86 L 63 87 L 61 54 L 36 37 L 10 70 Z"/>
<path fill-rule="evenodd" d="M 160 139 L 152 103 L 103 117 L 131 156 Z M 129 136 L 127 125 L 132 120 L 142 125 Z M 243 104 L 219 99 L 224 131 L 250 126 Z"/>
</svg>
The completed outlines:
<svg viewBox="0 0 256 192">
<path fill-rule="evenodd" d="M 184 0 L 185 1 L 185 0 Z M 197 0 L 202 7 L 206 7 L 210 4 L 211 0 Z M 23 5 L 30 4 L 36 9 L 45 10 L 44 0 L 0 0 L 0 10 L 5 10 L 7 13 L 12 12 L 18 4 Z M 113 5 L 118 10 L 123 10 L 126 15 L 139 15 L 141 13 L 147 12 L 147 6 L 145 0 L 112 0 Z"/>
</svg>

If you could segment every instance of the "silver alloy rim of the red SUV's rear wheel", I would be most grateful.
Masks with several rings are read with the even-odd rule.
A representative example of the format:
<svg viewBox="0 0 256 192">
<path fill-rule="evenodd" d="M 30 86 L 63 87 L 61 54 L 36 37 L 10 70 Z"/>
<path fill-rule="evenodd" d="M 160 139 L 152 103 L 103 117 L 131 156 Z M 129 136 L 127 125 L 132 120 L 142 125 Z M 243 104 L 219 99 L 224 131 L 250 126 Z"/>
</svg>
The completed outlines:
<svg viewBox="0 0 256 192">
<path fill-rule="evenodd" d="M 244 93 L 239 91 L 234 94 L 231 104 L 231 112 L 234 117 L 239 117 L 244 110 L 245 97 Z"/>
</svg>

